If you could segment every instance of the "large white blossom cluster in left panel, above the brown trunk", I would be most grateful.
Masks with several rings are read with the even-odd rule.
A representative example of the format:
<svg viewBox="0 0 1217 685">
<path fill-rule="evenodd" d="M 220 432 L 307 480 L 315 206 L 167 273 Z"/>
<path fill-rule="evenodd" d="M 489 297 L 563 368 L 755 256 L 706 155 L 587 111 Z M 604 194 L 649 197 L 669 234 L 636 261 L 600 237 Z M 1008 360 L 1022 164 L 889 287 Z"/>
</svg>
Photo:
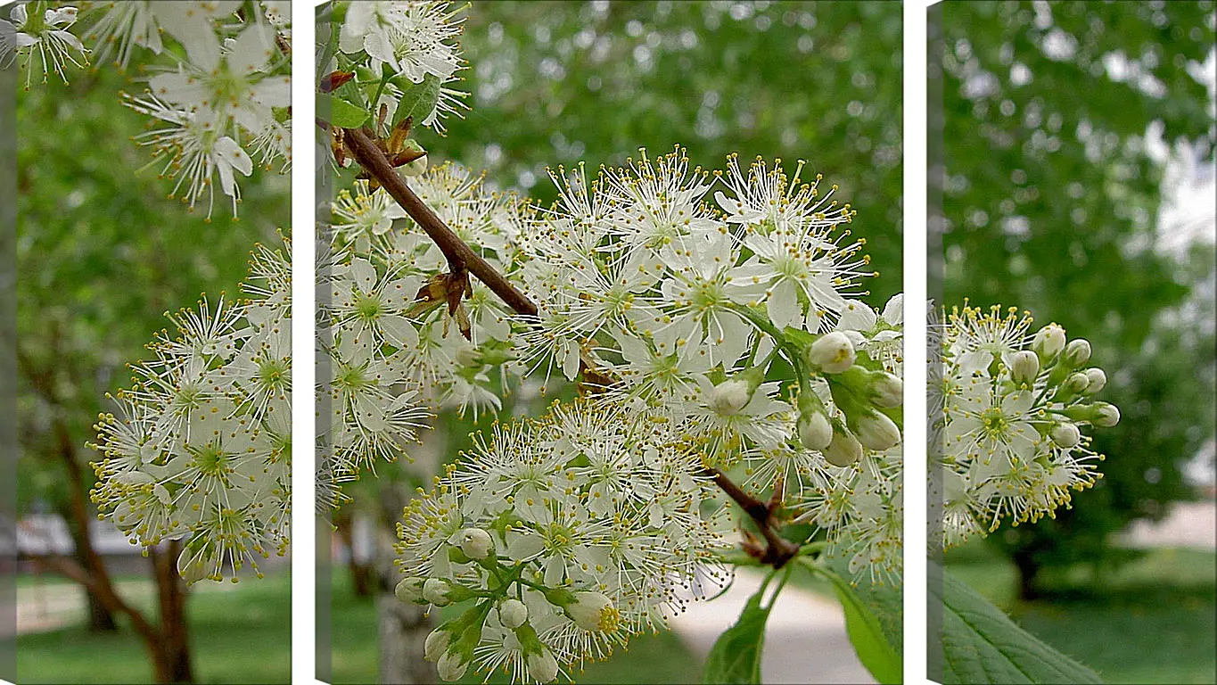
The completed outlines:
<svg viewBox="0 0 1217 685">
<path fill-rule="evenodd" d="M 286 551 L 291 521 L 290 245 L 259 246 L 246 297 L 172 316 L 96 426 L 92 500 L 133 544 L 181 539 L 187 582 Z"/>
</svg>

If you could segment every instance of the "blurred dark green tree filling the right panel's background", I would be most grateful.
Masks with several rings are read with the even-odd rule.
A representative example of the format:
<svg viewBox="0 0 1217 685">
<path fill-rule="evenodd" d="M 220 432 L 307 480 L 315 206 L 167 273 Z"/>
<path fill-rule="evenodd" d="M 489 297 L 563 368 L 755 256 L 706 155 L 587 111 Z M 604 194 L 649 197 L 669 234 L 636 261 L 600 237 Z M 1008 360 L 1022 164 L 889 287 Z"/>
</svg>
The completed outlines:
<svg viewBox="0 0 1217 685">
<path fill-rule="evenodd" d="M 1105 477 L 1072 510 L 989 538 L 1028 597 L 1044 568 L 1125 556 L 1111 535 L 1191 496 L 1183 462 L 1213 437 L 1213 249 L 1178 236 L 1211 219 L 1161 212 L 1168 158 L 1213 161 L 1213 2 L 943 15 L 946 304 L 1016 305 L 1089 338 L 1110 378 L 1100 398 L 1123 415 L 1094 443 Z"/>
</svg>

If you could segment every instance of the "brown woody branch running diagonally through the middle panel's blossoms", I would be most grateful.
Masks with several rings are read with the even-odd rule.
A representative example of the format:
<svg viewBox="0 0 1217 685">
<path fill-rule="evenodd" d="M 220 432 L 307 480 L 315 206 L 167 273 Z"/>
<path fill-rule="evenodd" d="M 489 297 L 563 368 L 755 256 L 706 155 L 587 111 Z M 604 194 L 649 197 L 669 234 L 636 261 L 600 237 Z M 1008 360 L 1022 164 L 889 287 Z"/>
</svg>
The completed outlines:
<svg viewBox="0 0 1217 685">
<path fill-rule="evenodd" d="M 324 122 L 319 120 L 318 125 L 329 129 L 329 124 L 325 124 Z M 427 207 L 427 204 L 417 195 L 415 195 L 413 190 L 410 190 L 410 186 L 406 185 L 405 180 L 402 179 L 402 176 L 399 176 L 397 170 L 393 168 L 385 148 L 377 140 L 374 139 L 370 131 L 366 129 L 342 129 L 342 140 L 350 150 L 355 161 L 364 168 L 364 172 L 380 183 L 389 196 L 392 196 L 393 200 L 396 200 L 397 203 L 405 209 L 405 213 L 409 214 L 415 223 L 422 226 L 422 230 L 427 232 L 427 236 L 434 241 L 436 246 L 439 247 L 439 251 L 443 252 L 444 258 L 448 260 L 448 268 L 453 276 L 459 277 L 466 271 L 473 274 L 517 314 L 535 319 L 538 309 L 537 305 L 528 299 L 528 296 L 516 290 L 516 287 L 512 286 L 511 282 L 507 281 L 507 279 L 494 266 L 492 266 L 489 262 L 482 259 L 481 256 L 465 245 L 465 241 L 453 232 L 453 230 L 444 224 L 443 219 L 436 215 L 436 213 Z M 581 359 L 579 366 L 584 374 L 596 374 L 585 358 Z M 596 377 L 601 380 L 605 378 L 600 375 Z M 745 493 L 742 488 L 735 484 L 735 482 L 728 478 L 722 471 L 706 467 L 705 473 L 714 479 L 714 484 L 727 493 L 727 496 L 731 498 L 731 500 L 744 509 L 748 517 L 757 524 L 757 529 L 764 537 L 764 549 L 752 549 L 751 545 L 745 544 L 745 549 L 748 554 L 752 554 L 762 563 L 773 566 L 774 568 L 781 568 L 787 561 L 798 554 L 798 545 L 786 540 L 781 535 L 778 535 L 776 530 L 774 530 L 773 512 L 776 511 L 780 505 L 780 496 L 778 495 L 778 492 L 781 489 L 780 484 L 774 488 L 773 501 L 765 504 Z"/>
</svg>

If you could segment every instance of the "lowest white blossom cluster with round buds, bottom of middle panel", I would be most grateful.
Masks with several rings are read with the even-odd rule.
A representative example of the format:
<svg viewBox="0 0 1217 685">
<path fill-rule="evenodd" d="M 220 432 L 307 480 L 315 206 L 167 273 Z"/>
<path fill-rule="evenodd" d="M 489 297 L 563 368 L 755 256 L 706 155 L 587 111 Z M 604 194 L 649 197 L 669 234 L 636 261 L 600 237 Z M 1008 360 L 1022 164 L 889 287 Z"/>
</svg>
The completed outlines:
<svg viewBox="0 0 1217 685">
<path fill-rule="evenodd" d="M 689 436 L 604 404 L 495 426 L 398 524 L 402 601 L 470 601 L 426 640 L 439 676 L 570 676 L 729 578 Z"/>
</svg>

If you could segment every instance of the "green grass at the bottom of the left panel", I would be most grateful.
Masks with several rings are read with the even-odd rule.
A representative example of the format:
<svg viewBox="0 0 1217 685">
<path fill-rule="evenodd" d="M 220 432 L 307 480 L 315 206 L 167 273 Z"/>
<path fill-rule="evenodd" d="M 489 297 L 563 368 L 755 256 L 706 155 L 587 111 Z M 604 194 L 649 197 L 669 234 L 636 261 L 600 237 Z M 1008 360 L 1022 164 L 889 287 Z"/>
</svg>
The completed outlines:
<svg viewBox="0 0 1217 685">
<path fill-rule="evenodd" d="M 291 680 L 291 580 L 287 574 L 200 590 L 187 602 L 198 683 Z M 139 636 L 97 635 L 83 625 L 17 636 L 21 683 L 151 683 Z"/>
</svg>

